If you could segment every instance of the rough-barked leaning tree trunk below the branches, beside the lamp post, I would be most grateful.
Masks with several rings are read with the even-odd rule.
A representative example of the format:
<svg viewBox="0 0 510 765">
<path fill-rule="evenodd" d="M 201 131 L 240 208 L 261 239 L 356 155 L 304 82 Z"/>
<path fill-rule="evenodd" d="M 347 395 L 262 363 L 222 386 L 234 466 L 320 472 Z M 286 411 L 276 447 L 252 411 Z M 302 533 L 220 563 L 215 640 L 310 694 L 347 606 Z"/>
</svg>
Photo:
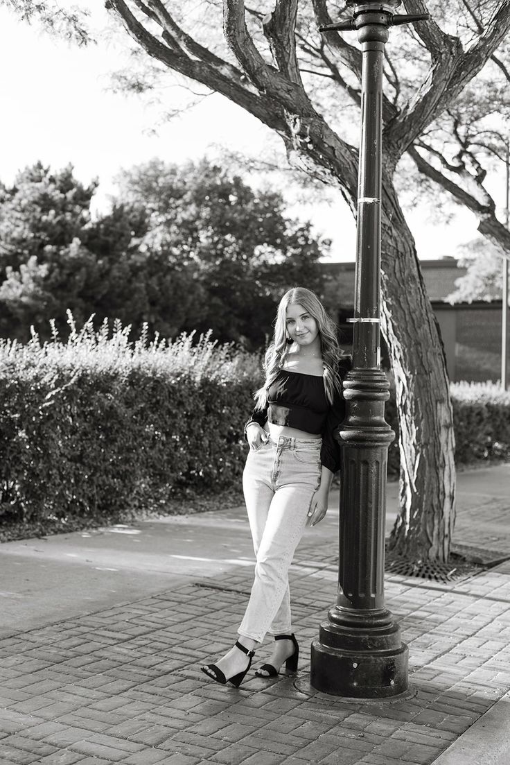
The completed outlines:
<svg viewBox="0 0 510 765">
<path fill-rule="evenodd" d="M 401 461 L 390 549 L 446 562 L 455 522 L 450 382 L 413 236 L 393 184 L 383 183 L 382 331 L 395 375 Z"/>
</svg>

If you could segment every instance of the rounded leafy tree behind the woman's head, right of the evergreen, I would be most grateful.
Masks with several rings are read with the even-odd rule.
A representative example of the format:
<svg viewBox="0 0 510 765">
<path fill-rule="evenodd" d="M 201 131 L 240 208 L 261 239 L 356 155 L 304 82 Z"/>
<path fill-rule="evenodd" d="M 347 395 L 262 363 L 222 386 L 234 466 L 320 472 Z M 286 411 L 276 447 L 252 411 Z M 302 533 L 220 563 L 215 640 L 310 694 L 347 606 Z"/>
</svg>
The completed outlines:
<svg viewBox="0 0 510 765">
<path fill-rule="evenodd" d="M 254 190 L 206 160 L 153 160 L 118 183 L 121 200 L 147 210 L 144 248 L 180 278 L 192 275 L 194 310 L 184 329 L 258 348 L 282 291 L 303 282 L 321 291 L 327 243 L 285 216 L 279 192 Z"/>
</svg>

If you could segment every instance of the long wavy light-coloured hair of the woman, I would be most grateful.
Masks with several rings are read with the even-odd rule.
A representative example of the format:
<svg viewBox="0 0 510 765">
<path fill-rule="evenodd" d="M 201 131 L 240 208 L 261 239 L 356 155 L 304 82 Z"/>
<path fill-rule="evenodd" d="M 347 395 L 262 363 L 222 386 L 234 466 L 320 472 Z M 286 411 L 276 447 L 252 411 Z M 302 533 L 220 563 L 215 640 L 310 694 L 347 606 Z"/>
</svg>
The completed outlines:
<svg viewBox="0 0 510 765">
<path fill-rule="evenodd" d="M 300 304 L 315 321 L 319 329 L 320 353 L 323 360 L 323 379 L 326 398 L 333 403 L 335 392 L 341 392 L 342 382 L 337 371 L 338 361 L 345 354 L 340 349 L 336 339 L 336 324 L 326 314 L 323 304 L 317 295 L 305 287 L 294 287 L 285 292 L 278 305 L 274 321 L 274 335 L 271 345 L 265 353 L 263 365 L 265 373 L 264 385 L 253 394 L 257 409 L 264 409 L 268 402 L 268 389 L 277 378 L 292 343 L 287 335 L 287 308 L 289 305 Z"/>
</svg>

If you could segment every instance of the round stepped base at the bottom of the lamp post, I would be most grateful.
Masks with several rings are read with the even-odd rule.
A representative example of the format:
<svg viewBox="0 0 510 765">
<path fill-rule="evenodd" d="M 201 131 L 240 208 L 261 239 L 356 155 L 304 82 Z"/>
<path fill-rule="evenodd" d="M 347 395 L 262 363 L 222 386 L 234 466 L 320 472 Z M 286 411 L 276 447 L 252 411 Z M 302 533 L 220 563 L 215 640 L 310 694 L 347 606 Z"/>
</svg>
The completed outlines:
<svg viewBox="0 0 510 765">
<path fill-rule="evenodd" d="M 313 688 L 348 698 L 388 698 L 406 691 L 408 646 L 401 643 L 389 611 L 384 617 L 384 626 L 375 630 L 323 623 L 311 649 Z"/>
</svg>

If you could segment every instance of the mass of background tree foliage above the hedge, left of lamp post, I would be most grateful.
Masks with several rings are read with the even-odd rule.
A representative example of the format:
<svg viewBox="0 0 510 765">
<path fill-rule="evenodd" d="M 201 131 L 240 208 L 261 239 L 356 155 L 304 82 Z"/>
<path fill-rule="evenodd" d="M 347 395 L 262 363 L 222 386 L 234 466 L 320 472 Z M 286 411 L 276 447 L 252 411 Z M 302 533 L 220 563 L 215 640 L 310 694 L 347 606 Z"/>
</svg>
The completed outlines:
<svg viewBox="0 0 510 765">
<path fill-rule="evenodd" d="M 165 337 L 213 327 L 219 340 L 254 348 L 285 289 L 320 291 L 327 243 L 285 215 L 280 193 L 206 161 L 154 160 L 123 172 L 119 185 L 96 220 L 96 183 L 83 187 L 70 166 L 54 173 L 37 163 L 2 188 L 4 337 L 26 341 L 34 324 L 47 338 L 51 317 L 64 333 L 70 308 L 78 324 L 117 317 Z"/>
</svg>

